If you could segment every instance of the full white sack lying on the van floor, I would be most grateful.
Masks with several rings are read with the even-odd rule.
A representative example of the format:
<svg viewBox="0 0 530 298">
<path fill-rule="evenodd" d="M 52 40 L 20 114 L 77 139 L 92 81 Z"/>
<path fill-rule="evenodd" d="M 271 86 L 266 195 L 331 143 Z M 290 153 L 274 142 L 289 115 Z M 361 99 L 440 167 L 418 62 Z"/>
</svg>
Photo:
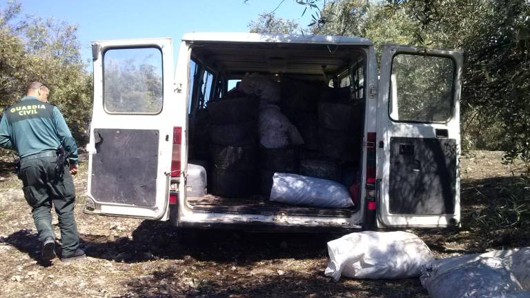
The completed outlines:
<svg viewBox="0 0 530 298">
<path fill-rule="evenodd" d="M 273 175 L 271 201 L 322 208 L 353 206 L 348 189 L 340 183 L 278 172 Z"/>
</svg>

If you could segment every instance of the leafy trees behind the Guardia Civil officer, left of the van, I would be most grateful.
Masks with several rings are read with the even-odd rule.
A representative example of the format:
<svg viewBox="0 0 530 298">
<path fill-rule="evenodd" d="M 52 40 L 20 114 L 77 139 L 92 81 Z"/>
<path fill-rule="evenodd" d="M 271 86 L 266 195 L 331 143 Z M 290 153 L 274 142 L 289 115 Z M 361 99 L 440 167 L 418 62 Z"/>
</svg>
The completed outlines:
<svg viewBox="0 0 530 298">
<path fill-rule="evenodd" d="M 46 82 L 50 102 L 84 146 L 92 114 L 92 76 L 81 63 L 77 25 L 38 17 L 13 24 L 20 12 L 17 2 L 0 10 L 0 110 L 21 99 L 31 81 Z"/>
</svg>

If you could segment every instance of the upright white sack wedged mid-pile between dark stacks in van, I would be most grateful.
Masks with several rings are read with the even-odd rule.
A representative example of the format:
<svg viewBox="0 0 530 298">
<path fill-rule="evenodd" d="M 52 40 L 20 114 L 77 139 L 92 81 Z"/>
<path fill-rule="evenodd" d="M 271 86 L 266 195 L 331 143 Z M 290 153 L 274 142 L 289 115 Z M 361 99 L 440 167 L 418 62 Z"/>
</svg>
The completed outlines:
<svg viewBox="0 0 530 298">
<path fill-rule="evenodd" d="M 260 104 L 258 118 L 259 143 L 265 148 L 278 149 L 304 143 L 296 126 L 280 112 L 279 106 Z"/>
</svg>

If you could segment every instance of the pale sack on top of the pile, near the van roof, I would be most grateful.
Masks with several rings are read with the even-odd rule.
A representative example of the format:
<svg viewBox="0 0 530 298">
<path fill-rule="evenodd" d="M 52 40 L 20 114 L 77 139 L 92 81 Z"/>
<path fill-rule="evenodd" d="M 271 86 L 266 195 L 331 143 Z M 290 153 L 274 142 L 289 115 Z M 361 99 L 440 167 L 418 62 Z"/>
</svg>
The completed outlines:
<svg viewBox="0 0 530 298">
<path fill-rule="evenodd" d="M 239 83 L 239 90 L 269 103 L 277 103 L 281 98 L 279 83 L 257 72 L 246 73 Z"/>
</svg>

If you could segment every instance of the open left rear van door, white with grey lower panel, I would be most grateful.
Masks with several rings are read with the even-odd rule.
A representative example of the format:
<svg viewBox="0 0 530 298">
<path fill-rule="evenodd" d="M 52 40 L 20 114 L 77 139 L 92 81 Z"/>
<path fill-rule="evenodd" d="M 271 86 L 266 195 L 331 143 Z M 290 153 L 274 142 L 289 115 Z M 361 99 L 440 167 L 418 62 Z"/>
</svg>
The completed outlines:
<svg viewBox="0 0 530 298">
<path fill-rule="evenodd" d="M 174 143 L 171 39 L 95 42 L 92 58 L 85 212 L 161 219 Z"/>
</svg>

